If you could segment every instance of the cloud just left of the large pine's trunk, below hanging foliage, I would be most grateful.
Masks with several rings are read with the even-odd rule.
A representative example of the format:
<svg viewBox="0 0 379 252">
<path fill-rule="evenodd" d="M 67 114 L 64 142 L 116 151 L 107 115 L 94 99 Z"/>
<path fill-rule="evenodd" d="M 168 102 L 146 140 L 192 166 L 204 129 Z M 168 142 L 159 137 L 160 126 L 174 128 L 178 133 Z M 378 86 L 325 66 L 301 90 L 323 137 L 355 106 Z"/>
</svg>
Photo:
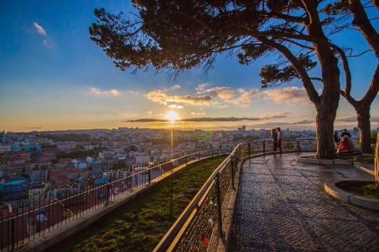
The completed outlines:
<svg viewBox="0 0 379 252">
<path fill-rule="evenodd" d="M 265 97 L 276 103 L 291 103 L 308 101 L 307 92 L 304 87 L 282 87 L 274 90 L 265 90 Z"/>
</svg>

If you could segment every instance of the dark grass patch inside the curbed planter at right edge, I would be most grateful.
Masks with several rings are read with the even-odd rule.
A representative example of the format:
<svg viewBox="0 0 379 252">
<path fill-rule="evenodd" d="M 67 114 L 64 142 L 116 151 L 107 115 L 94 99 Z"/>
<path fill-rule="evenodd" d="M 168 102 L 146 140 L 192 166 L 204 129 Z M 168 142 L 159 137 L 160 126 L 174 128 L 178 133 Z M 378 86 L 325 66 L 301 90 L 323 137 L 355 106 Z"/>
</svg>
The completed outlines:
<svg viewBox="0 0 379 252">
<path fill-rule="evenodd" d="M 379 199 L 379 190 L 376 190 L 375 182 L 351 180 L 338 182 L 336 186 L 354 195 Z"/>
</svg>

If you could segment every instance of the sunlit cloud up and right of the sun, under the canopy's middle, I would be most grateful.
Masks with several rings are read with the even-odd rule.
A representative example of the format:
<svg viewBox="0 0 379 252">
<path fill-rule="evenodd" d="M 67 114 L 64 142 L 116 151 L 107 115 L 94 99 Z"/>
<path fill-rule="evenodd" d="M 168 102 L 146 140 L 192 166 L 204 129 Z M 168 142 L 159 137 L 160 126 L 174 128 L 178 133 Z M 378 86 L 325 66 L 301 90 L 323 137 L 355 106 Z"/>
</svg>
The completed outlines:
<svg viewBox="0 0 379 252">
<path fill-rule="evenodd" d="M 197 94 L 209 94 L 218 97 L 224 103 L 230 103 L 241 107 L 247 106 L 253 98 L 258 97 L 259 90 L 244 90 L 243 88 L 234 89 L 232 87 L 212 87 L 205 89 L 208 84 L 199 84 L 196 87 Z"/>
</svg>

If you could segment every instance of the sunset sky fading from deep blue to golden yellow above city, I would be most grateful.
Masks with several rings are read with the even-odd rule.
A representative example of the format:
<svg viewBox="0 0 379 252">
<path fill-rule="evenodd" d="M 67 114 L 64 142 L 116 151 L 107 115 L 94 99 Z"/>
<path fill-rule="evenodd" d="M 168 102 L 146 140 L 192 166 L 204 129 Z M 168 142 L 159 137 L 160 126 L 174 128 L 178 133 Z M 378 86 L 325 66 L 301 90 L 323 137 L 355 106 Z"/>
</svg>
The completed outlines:
<svg viewBox="0 0 379 252">
<path fill-rule="evenodd" d="M 1 130 L 172 127 L 170 123 L 130 122 L 161 120 L 170 111 L 179 118 L 240 118 L 176 123 L 183 129 L 315 128 L 314 105 L 300 81 L 261 88 L 260 67 L 278 61 L 275 54 L 248 66 L 240 65 L 236 56 L 221 54 L 208 72 L 199 67 L 176 79 L 167 72 L 119 70 L 90 40 L 88 28 L 96 21 L 93 10 L 101 7 L 114 13 L 132 10 L 129 1 L 113 0 L 1 4 Z M 378 29 L 379 21 L 374 25 Z M 333 36 L 332 41 L 352 46 L 356 54 L 369 48 L 356 31 Z M 376 63 L 373 52 L 350 59 L 355 98 L 365 94 Z M 311 74 L 320 76 L 320 71 Z M 318 83 L 316 87 L 322 88 Z M 378 125 L 378 100 L 371 107 L 373 127 Z M 355 118 L 353 107 L 341 98 L 335 127 L 356 127 Z"/>
</svg>

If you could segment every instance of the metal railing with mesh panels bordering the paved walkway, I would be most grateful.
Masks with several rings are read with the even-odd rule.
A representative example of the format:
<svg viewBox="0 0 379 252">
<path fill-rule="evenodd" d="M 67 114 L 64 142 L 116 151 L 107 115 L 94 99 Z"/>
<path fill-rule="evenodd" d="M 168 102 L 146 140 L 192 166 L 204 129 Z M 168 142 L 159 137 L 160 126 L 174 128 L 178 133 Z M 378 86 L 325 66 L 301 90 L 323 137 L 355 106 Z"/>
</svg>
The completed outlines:
<svg viewBox="0 0 379 252">
<path fill-rule="evenodd" d="M 314 150 L 315 139 L 283 140 L 283 150 Z M 217 167 L 154 251 L 218 251 L 225 246 L 223 216 L 234 186 L 238 162 L 273 150 L 269 140 L 240 143 Z"/>
</svg>

